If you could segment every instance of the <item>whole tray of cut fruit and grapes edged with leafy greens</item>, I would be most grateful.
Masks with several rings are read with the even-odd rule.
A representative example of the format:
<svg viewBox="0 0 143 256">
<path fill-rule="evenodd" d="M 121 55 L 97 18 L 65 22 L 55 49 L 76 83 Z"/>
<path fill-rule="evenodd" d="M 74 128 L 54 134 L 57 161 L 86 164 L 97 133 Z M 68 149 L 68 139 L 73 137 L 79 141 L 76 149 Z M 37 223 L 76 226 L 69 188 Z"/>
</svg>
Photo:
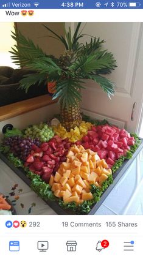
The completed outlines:
<svg viewBox="0 0 143 256">
<path fill-rule="evenodd" d="M 1 159 L 57 214 L 96 213 L 142 149 L 136 134 L 82 120 L 69 132 L 58 122 L 7 129 L 0 145 Z"/>
</svg>

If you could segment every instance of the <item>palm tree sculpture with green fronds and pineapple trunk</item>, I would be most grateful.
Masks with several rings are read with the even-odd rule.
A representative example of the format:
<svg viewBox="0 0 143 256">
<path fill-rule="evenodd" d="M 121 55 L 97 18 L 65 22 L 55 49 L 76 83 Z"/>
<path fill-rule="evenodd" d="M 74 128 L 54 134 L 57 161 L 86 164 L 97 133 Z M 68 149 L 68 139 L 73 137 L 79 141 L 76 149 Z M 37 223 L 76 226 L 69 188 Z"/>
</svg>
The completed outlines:
<svg viewBox="0 0 143 256">
<path fill-rule="evenodd" d="M 77 24 L 74 35 L 71 28 L 65 31 L 65 38 L 58 36 L 47 26 L 43 25 L 50 33 L 49 37 L 58 39 L 65 46 L 65 52 L 60 58 L 46 55 L 32 40 L 26 39 L 20 31 L 12 32 L 16 45 L 12 48 L 13 62 L 21 67 L 35 70 L 36 73 L 25 75 L 20 81 L 20 87 L 28 91 L 30 86 L 41 83 L 55 83 L 55 92 L 52 99 L 58 99 L 62 125 L 70 130 L 80 126 L 81 89 L 84 80 L 95 81 L 103 91 L 112 96 L 114 84 L 105 76 L 116 67 L 113 54 L 103 50 L 104 40 L 90 37 L 89 43 L 80 43 L 85 35 L 80 32 L 81 23 Z"/>
</svg>

